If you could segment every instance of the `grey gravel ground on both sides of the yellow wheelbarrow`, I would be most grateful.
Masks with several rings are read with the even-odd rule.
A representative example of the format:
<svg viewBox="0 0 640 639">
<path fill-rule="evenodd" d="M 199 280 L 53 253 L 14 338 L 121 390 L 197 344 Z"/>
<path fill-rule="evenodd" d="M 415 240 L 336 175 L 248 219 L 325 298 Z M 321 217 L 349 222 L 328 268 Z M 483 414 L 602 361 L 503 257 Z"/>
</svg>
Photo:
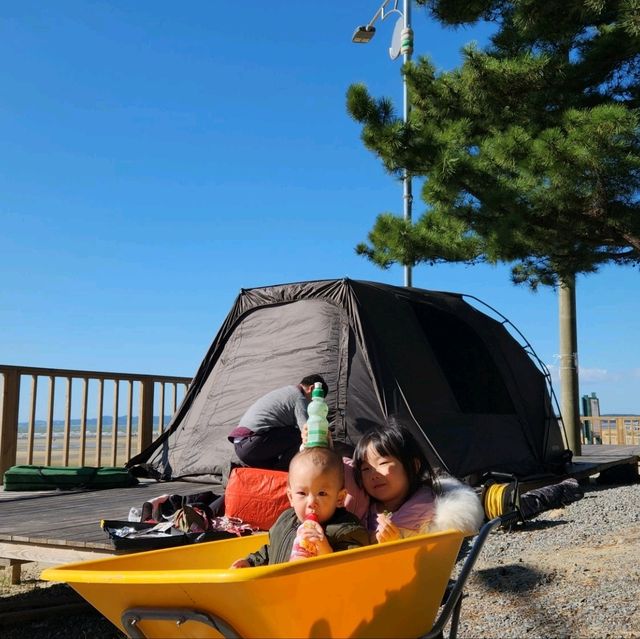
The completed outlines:
<svg viewBox="0 0 640 639">
<path fill-rule="evenodd" d="M 640 639 L 640 484 L 585 487 L 585 497 L 493 532 L 467 582 L 460 639 Z M 70 589 L 23 568 L 0 604 Z M 6 607 L 5 607 L 6 609 Z M 2 639 L 124 637 L 97 612 L 0 628 Z"/>
</svg>

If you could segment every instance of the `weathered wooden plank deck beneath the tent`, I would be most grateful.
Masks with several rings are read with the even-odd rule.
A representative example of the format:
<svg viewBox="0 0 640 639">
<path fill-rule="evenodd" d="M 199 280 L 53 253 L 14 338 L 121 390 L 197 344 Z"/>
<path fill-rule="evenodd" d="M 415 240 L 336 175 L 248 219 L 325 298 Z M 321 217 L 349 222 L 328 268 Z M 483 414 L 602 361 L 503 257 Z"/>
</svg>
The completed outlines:
<svg viewBox="0 0 640 639">
<path fill-rule="evenodd" d="M 638 475 L 640 446 L 585 445 L 566 477 L 585 479 L 622 471 L 622 481 Z M 635 474 L 635 475 L 634 475 Z M 563 477 L 541 477 L 522 490 L 555 483 Z M 119 554 L 101 519 L 126 520 L 131 507 L 164 494 L 189 495 L 219 486 L 194 482 L 142 480 L 139 486 L 93 491 L 6 492 L 0 490 L 0 565 L 19 579 L 20 564 L 38 561 L 62 564 Z M 122 551 L 120 551 L 122 552 Z"/>
</svg>

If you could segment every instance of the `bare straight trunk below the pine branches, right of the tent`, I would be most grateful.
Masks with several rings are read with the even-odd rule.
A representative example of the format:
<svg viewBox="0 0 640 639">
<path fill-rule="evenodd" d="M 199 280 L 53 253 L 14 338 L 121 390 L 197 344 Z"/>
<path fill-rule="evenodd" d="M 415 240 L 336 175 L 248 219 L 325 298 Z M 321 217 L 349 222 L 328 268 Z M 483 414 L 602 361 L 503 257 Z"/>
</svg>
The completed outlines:
<svg viewBox="0 0 640 639">
<path fill-rule="evenodd" d="M 576 323 L 576 278 L 565 278 L 558 288 L 560 322 L 560 396 L 567 445 L 582 454 L 582 426 L 578 391 L 578 330 Z"/>
</svg>

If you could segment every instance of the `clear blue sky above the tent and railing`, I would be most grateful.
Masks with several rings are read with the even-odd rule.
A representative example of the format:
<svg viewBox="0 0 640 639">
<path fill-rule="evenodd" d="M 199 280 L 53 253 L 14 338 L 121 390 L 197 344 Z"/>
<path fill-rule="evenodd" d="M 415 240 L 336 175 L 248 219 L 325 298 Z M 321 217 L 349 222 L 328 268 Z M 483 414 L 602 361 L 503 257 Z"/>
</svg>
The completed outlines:
<svg viewBox="0 0 640 639">
<path fill-rule="evenodd" d="M 402 212 L 345 110 L 360 81 L 401 108 L 395 20 L 351 43 L 378 6 L 2 3 L 0 362 L 190 376 L 240 288 L 402 284 L 354 253 L 378 213 Z M 486 37 L 420 10 L 413 24 L 416 53 L 443 68 Z M 579 279 L 580 392 L 603 412 L 640 412 L 639 278 Z M 414 285 L 495 307 L 555 374 L 553 291 L 506 267 L 421 266 Z"/>
</svg>

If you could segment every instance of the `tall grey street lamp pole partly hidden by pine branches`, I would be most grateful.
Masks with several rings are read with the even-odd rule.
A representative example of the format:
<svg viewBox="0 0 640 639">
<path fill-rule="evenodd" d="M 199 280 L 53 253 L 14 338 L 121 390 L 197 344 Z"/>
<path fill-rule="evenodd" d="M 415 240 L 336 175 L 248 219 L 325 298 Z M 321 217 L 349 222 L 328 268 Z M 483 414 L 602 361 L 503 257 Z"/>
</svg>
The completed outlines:
<svg viewBox="0 0 640 639">
<path fill-rule="evenodd" d="M 385 0 L 378 10 L 373 14 L 373 18 L 364 26 L 358 27 L 353 37 L 353 42 L 358 44 L 366 44 L 370 42 L 376 33 L 374 22 L 380 18 L 384 20 L 393 13 L 397 13 L 400 17 L 396 22 L 391 38 L 391 46 L 389 47 L 389 56 L 395 60 L 400 54 L 403 56 L 403 62 L 406 64 L 411 60 L 413 53 L 413 31 L 411 29 L 411 0 L 403 0 L 402 10 L 398 9 L 399 0 L 394 0 L 393 5 L 389 8 L 391 0 Z M 409 91 L 407 89 L 407 78 L 402 76 L 402 119 L 406 124 L 409 120 Z M 405 168 L 402 174 L 402 197 L 404 202 L 404 219 L 411 222 L 411 207 L 413 204 L 413 194 L 411 192 L 411 176 Z M 411 286 L 411 265 L 405 264 L 404 267 L 404 285 Z"/>
</svg>

